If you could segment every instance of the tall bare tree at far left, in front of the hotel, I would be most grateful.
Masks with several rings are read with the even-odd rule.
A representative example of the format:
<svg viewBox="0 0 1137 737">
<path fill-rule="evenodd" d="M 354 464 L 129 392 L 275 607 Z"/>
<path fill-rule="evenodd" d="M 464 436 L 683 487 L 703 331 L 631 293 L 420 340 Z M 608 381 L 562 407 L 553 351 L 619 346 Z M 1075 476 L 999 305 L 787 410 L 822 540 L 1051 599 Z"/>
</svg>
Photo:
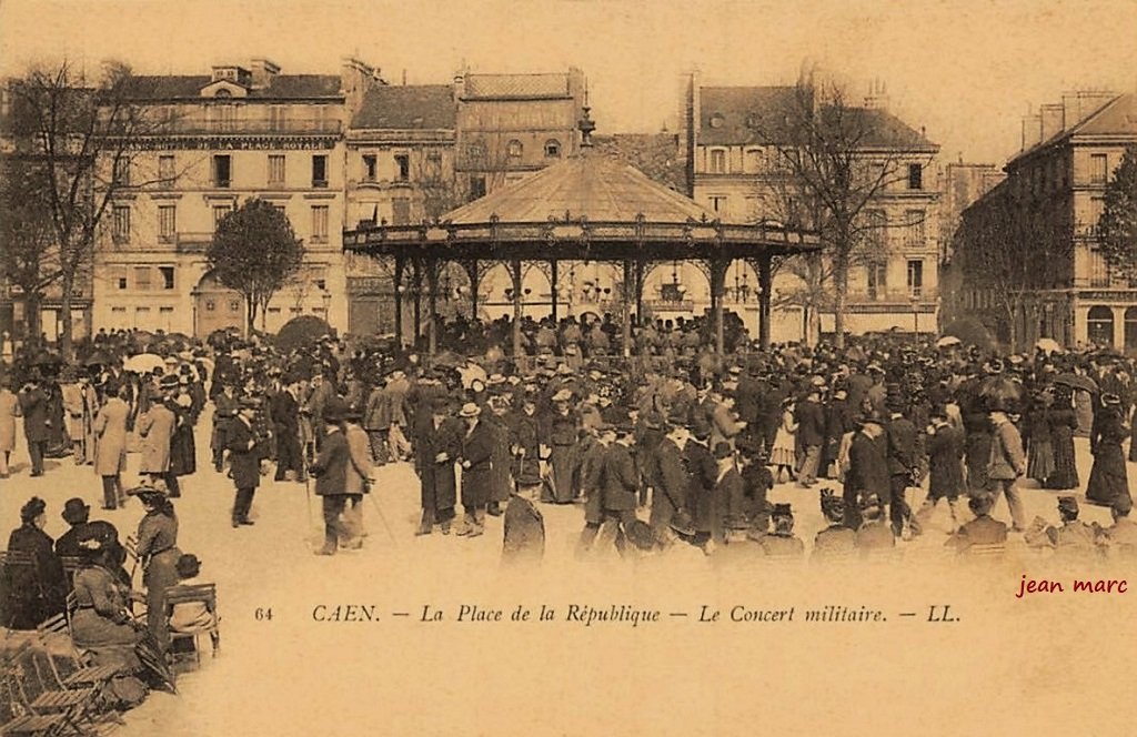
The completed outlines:
<svg viewBox="0 0 1137 737">
<path fill-rule="evenodd" d="M 13 130 L 30 146 L 28 187 L 47 198 L 61 293 L 60 351 L 70 356 L 72 301 L 81 270 L 93 260 L 103 217 L 116 198 L 158 180 L 132 177 L 142 139 L 169 123 L 131 97 L 132 74 L 106 63 L 97 81 L 63 60 L 38 65 L 11 84 Z"/>
</svg>

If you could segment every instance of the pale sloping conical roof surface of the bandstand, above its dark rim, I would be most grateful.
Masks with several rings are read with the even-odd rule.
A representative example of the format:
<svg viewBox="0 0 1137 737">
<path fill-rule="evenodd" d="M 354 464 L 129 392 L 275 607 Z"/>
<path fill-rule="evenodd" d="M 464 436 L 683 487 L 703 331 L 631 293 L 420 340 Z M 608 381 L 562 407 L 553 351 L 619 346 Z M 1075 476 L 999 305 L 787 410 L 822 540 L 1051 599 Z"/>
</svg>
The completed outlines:
<svg viewBox="0 0 1137 737">
<path fill-rule="evenodd" d="M 709 222 L 716 215 L 620 159 L 586 149 L 441 217 L 456 225 L 555 221 Z"/>
</svg>

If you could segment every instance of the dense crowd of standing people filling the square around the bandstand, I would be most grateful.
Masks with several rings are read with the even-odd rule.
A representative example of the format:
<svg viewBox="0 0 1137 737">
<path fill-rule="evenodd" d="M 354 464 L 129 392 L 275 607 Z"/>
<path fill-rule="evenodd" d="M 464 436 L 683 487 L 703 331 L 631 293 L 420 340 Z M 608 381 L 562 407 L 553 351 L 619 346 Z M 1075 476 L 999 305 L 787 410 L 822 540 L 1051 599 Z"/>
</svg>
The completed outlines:
<svg viewBox="0 0 1137 737">
<path fill-rule="evenodd" d="M 93 346 L 105 361 L 56 375 L 33 367 L 14 399 L 0 390 L 0 413 L 10 407 L 0 439 L 22 412 L 31 473 L 42 473 L 36 444 L 59 405 L 75 463 L 94 467 L 105 507 L 123 500 L 132 433 L 142 478 L 177 498 L 180 480 L 196 472 L 194 424 L 211 403 L 211 459 L 233 482 L 233 528 L 255 522 L 256 489 L 274 467 L 275 481 L 310 485 L 321 499 L 323 555 L 363 545 L 374 469 L 400 462 L 420 481 L 417 535 L 474 538 L 487 516 L 504 516 L 505 549 L 529 557 L 543 546 L 540 503 L 581 505 L 581 555 L 675 544 L 796 555 L 829 538 L 866 554 L 921 536 L 941 500 L 948 544 L 961 550 L 1006 532 L 1073 546 L 1027 519 L 1028 478 L 1057 492 L 1084 489 L 1087 503 L 1113 511 L 1117 524 L 1086 545 L 1131 545 L 1129 359 L 1104 350 L 996 356 L 888 337 L 840 350 L 761 350 L 728 324 L 722 355 L 705 320 L 637 326 L 624 351 L 611 317 L 526 318 L 521 356 L 503 347 L 507 318 L 440 324 L 434 356 L 331 336 L 283 350 L 232 333 L 157 348 L 113 333 Z M 164 354 L 163 364 L 124 371 L 143 350 Z M 1088 475 L 1076 437 L 1089 438 Z M 775 483 L 821 491 L 833 527 L 812 546 L 794 543 L 794 508 L 767 502 Z M 987 523 L 1001 499 L 1003 531 Z M 1060 499 L 1065 519 L 1078 497 Z"/>
</svg>

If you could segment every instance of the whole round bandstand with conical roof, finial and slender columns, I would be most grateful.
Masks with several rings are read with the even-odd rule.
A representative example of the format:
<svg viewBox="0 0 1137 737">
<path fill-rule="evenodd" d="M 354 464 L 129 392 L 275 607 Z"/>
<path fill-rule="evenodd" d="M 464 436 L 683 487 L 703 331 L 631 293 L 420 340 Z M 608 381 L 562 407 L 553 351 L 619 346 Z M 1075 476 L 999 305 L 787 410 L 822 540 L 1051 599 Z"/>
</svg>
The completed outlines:
<svg viewBox="0 0 1137 737">
<path fill-rule="evenodd" d="M 397 345 L 402 345 L 402 297 L 407 273 L 425 279 L 429 351 L 435 348 L 440 268 L 460 264 L 470 279 L 472 316 L 478 316 L 481 266 L 508 268 L 513 301 L 513 350 L 522 349 L 523 264 L 548 265 L 550 313 L 557 320 L 557 281 L 565 262 L 616 264 L 621 290 L 625 355 L 631 316 L 642 320 L 646 274 L 658 264 L 699 262 L 709 279 L 715 348 L 723 349 L 725 276 L 736 259 L 758 278 L 758 339 L 770 342 L 771 262 L 815 251 L 814 233 L 777 223 L 723 223 L 694 200 L 658 184 L 642 172 L 594 149 L 591 123 L 581 122 L 581 154 L 454 209 L 435 223 L 366 225 L 343 233 L 349 252 L 393 262 Z"/>
</svg>

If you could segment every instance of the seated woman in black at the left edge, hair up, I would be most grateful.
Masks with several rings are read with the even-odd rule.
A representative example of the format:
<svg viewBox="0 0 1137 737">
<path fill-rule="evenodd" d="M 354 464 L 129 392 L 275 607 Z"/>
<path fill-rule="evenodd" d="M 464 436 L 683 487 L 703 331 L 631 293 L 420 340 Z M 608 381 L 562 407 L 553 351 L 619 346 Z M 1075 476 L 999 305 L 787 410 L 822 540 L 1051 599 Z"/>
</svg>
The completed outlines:
<svg viewBox="0 0 1137 737">
<path fill-rule="evenodd" d="M 0 590 L 2 621 L 0 626 L 17 630 L 33 630 L 49 616 L 64 611 L 67 579 L 64 566 L 55 554 L 51 538 L 43 531 L 47 524 L 47 503 L 32 497 L 19 511 L 20 525 L 8 537 L 8 550 L 27 553 L 33 564 L 14 565 L 2 571 Z"/>
</svg>

